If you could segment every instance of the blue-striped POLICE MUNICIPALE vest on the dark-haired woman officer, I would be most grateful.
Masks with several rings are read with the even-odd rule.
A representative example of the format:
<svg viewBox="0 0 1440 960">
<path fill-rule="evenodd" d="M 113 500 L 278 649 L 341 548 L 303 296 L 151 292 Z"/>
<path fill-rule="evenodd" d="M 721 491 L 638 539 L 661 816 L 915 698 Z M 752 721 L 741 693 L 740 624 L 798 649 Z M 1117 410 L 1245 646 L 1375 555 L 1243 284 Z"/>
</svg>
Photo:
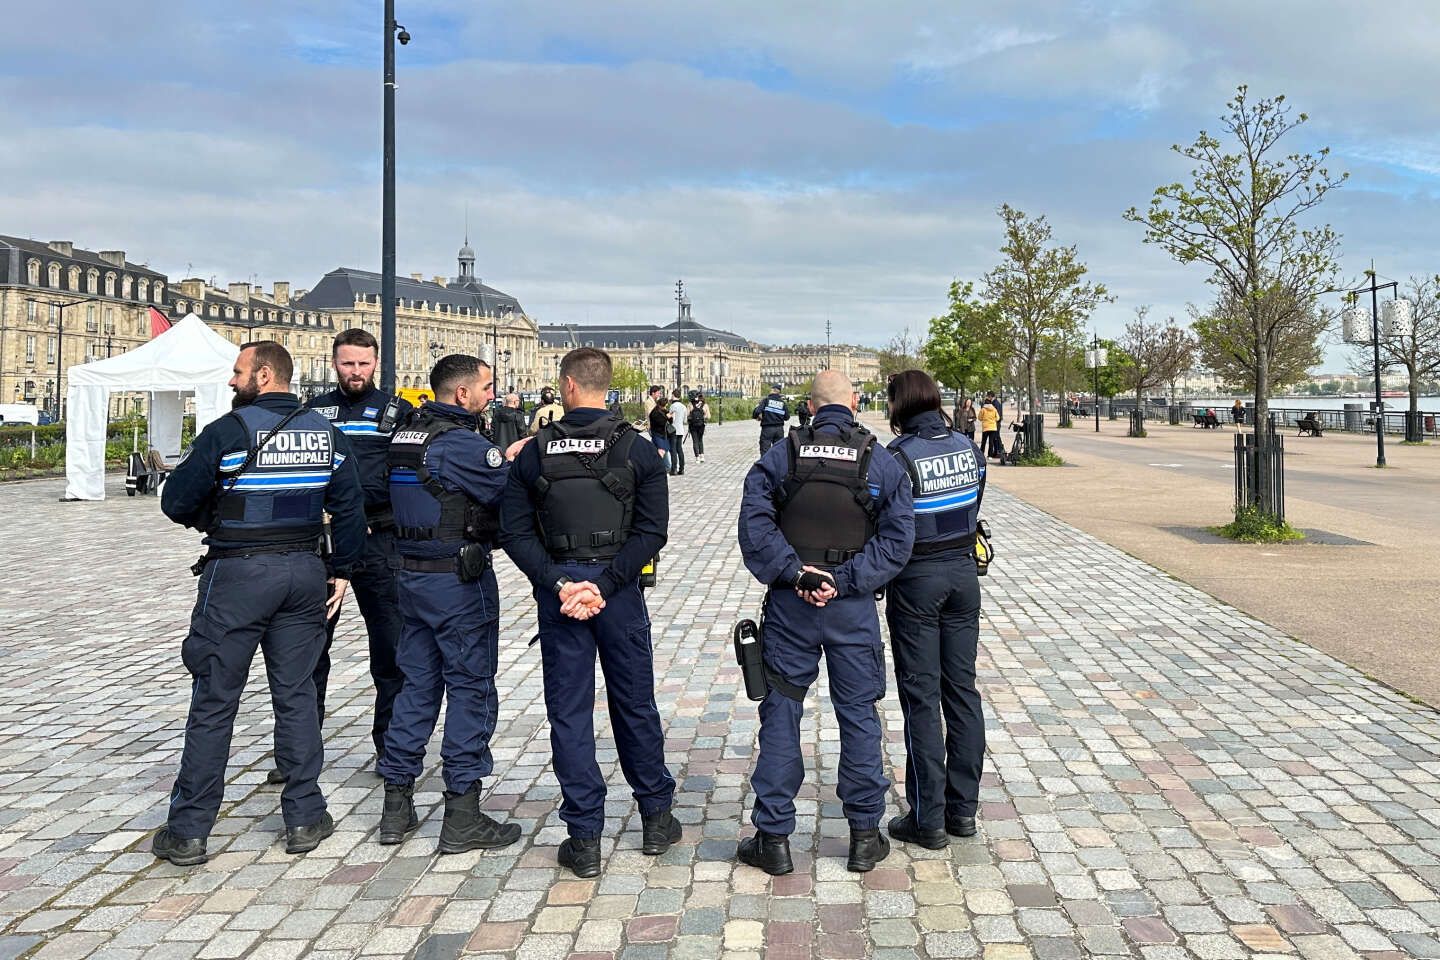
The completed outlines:
<svg viewBox="0 0 1440 960">
<path fill-rule="evenodd" d="M 913 556 L 968 548 L 975 543 L 981 510 L 981 478 L 985 459 L 975 443 L 950 430 L 936 417 L 917 433 L 890 442 L 906 472 L 914 497 Z"/>
</svg>

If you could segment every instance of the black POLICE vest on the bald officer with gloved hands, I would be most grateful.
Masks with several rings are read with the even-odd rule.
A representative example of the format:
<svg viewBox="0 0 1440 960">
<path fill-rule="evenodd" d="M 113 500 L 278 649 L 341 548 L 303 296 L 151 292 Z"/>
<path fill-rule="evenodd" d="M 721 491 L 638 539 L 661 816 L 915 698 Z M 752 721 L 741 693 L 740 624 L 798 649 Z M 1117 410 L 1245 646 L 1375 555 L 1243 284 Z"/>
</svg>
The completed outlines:
<svg viewBox="0 0 1440 960">
<path fill-rule="evenodd" d="M 780 533 L 801 563 L 829 570 L 845 563 L 876 535 L 870 495 L 870 455 L 876 438 L 855 425 L 840 433 L 791 430 L 791 468 L 775 507 Z"/>
</svg>

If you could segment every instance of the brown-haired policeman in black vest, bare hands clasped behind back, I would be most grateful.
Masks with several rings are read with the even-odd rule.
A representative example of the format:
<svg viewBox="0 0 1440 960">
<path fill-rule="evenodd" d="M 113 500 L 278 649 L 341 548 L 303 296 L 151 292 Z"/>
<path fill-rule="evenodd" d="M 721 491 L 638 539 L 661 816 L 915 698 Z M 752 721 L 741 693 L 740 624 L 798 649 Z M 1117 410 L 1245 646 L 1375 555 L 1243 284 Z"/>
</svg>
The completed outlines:
<svg viewBox="0 0 1440 960">
<path fill-rule="evenodd" d="M 641 852 L 681 838 L 675 782 L 655 707 L 649 613 L 641 567 L 665 545 L 670 502 L 655 448 L 603 409 L 611 357 L 582 347 L 560 361 L 564 417 L 516 458 L 501 543 L 534 584 L 550 750 L 569 839 L 557 859 L 576 877 L 600 872 L 605 779 L 595 760 L 595 656 L 621 770 L 639 803 Z"/>
</svg>

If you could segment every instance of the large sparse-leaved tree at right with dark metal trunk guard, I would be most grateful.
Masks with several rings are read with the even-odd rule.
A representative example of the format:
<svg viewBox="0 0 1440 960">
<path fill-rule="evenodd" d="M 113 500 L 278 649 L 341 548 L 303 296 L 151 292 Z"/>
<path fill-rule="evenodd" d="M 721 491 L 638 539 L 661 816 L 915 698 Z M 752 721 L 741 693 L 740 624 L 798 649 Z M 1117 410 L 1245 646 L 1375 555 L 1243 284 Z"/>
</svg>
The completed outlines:
<svg viewBox="0 0 1440 960">
<path fill-rule="evenodd" d="M 1315 356 L 1325 327 L 1316 322 L 1325 320 L 1316 299 L 1335 289 L 1339 236 L 1329 225 L 1302 220 L 1346 174 L 1325 167 L 1328 150 L 1280 154 L 1284 135 L 1308 119 L 1292 117 L 1284 96 L 1251 101 L 1241 86 L 1220 119 L 1233 145 L 1205 131 L 1188 147 L 1176 144 L 1175 153 L 1194 164 L 1191 181 L 1156 187 L 1143 213 L 1130 207 L 1125 217 L 1145 227 L 1146 243 L 1210 268 L 1217 308 L 1194 324 L 1195 334 L 1217 374 L 1240 381 L 1233 371 L 1244 370 L 1260 440 L 1269 432 L 1270 391 Z M 1269 461 L 1260 463 L 1256 486 L 1267 492 Z"/>
</svg>

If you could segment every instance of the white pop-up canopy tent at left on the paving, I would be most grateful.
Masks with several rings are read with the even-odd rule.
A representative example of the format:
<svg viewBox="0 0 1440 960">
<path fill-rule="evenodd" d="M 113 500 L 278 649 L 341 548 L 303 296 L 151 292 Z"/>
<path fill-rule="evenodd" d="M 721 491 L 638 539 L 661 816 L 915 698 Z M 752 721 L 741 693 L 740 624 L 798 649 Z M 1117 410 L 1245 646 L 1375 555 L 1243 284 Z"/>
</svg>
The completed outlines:
<svg viewBox="0 0 1440 960">
<path fill-rule="evenodd" d="M 239 347 L 190 314 L 148 344 L 66 371 L 65 498 L 105 499 L 105 425 L 112 391 L 148 391 L 150 445 L 180 456 L 184 394 L 194 394 L 194 429 L 230 409 L 226 384 Z"/>
</svg>

